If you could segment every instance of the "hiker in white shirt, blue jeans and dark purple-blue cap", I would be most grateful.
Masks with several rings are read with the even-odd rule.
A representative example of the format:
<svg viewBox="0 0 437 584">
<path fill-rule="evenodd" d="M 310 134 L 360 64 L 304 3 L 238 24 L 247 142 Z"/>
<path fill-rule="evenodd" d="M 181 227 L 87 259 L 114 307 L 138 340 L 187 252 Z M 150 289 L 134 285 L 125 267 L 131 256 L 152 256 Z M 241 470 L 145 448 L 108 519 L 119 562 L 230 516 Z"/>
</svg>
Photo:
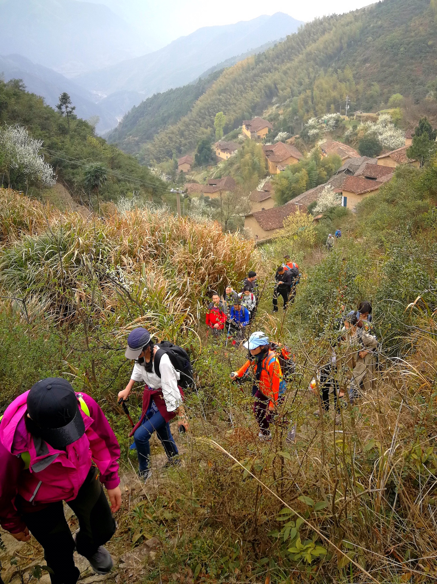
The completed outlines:
<svg viewBox="0 0 437 584">
<path fill-rule="evenodd" d="M 132 429 L 130 436 L 134 437 L 137 447 L 139 470 L 138 474 L 146 481 L 152 476 L 150 468 L 149 440 L 156 432 L 164 447 L 168 461 L 166 466 L 179 463 L 179 454 L 172 433 L 170 420 L 176 418 L 179 406 L 182 404 L 183 389 L 178 383 L 180 373 L 170 357 L 158 345 L 154 345 L 152 336 L 145 328 L 134 329 L 127 338 L 127 359 L 134 359 L 134 370 L 131 380 L 123 391 L 118 393 L 118 399 L 127 400 L 137 381 L 144 381 L 142 412 L 139 421 Z M 156 371 L 156 363 L 159 373 Z M 133 446 L 131 446 L 131 449 Z"/>
</svg>

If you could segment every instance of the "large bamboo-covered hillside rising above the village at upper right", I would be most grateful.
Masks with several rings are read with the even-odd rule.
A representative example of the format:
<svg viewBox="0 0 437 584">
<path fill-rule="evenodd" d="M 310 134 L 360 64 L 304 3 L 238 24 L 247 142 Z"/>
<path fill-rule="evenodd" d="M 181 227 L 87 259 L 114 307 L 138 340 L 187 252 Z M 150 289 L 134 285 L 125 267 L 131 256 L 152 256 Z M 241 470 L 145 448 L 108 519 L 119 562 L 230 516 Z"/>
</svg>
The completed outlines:
<svg viewBox="0 0 437 584">
<path fill-rule="evenodd" d="M 224 71 L 183 119 L 142 145 L 139 158 L 162 161 L 193 151 L 201 138 L 213 137 L 219 111 L 226 115 L 225 133 L 263 112 L 275 129 L 293 131 L 314 114 L 338 111 L 346 95 L 351 111 L 379 108 L 396 92 L 424 98 L 435 77 L 436 39 L 429 0 L 384 0 L 314 20 Z M 140 133 L 130 130 L 132 140 Z"/>
</svg>

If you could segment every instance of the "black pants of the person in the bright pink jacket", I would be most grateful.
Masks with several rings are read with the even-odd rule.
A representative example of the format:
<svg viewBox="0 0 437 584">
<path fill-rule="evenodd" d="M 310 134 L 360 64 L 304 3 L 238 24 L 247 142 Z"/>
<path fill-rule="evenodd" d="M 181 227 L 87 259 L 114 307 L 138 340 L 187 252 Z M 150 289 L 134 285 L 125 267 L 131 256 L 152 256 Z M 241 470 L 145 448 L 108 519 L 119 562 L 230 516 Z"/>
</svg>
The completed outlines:
<svg viewBox="0 0 437 584">
<path fill-rule="evenodd" d="M 43 509 L 29 512 L 29 503 L 17 497 L 17 507 L 33 537 L 44 548 L 51 584 L 76 584 L 81 573 L 76 568 L 73 552 L 91 558 L 100 545 L 105 544 L 116 531 L 116 522 L 99 481 L 99 471 L 91 467 L 78 496 L 67 505 L 79 520 L 80 531 L 76 545 L 64 516 L 62 501 L 49 503 Z M 26 510 L 23 510 L 26 506 Z"/>
</svg>

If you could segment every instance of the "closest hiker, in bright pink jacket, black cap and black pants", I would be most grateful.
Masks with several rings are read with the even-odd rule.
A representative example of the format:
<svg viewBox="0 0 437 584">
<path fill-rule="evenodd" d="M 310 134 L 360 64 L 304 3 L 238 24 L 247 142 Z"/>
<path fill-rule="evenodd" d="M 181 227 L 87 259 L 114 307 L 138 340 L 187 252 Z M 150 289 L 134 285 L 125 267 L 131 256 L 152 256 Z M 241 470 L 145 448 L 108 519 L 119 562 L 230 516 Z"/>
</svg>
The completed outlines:
<svg viewBox="0 0 437 584">
<path fill-rule="evenodd" d="M 102 409 L 65 379 L 39 381 L 6 409 L 0 422 L 0 524 L 19 541 L 32 532 L 44 548 L 52 584 L 76 584 L 75 548 L 96 573 L 111 571 L 103 544 L 116 531 L 111 511 L 121 505 L 119 457 Z M 78 517 L 75 540 L 62 501 Z"/>
</svg>

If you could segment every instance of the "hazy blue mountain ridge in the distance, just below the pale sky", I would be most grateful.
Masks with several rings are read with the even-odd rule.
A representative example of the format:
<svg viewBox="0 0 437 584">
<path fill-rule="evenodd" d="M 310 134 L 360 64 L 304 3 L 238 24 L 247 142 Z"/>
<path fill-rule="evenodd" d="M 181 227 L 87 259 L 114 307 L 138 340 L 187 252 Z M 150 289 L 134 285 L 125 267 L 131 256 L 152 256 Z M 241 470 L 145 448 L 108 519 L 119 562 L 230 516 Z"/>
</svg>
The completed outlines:
<svg viewBox="0 0 437 584">
<path fill-rule="evenodd" d="M 186 85 L 219 62 L 295 33 L 302 24 L 277 12 L 232 25 L 203 27 L 158 51 L 79 75 L 76 81 L 106 95 L 137 91 L 148 97 Z"/>
</svg>

